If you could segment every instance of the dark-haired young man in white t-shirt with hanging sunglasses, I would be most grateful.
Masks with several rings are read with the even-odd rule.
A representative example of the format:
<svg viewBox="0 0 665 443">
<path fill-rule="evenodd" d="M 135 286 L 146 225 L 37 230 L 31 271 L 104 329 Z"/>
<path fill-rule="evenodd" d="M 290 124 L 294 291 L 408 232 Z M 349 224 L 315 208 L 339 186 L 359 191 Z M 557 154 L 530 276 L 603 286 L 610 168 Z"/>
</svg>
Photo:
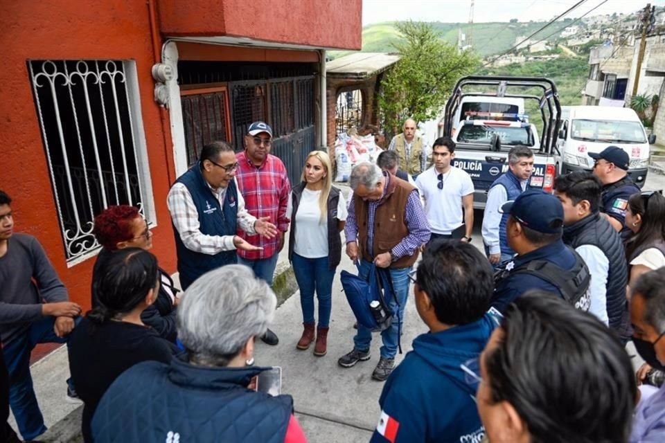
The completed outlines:
<svg viewBox="0 0 665 443">
<path fill-rule="evenodd" d="M 471 241 L 473 230 L 473 182 L 465 171 L 450 164 L 455 143 L 450 137 L 437 138 L 432 147 L 432 168 L 416 179 L 425 199 L 425 214 L 432 238 L 452 238 L 456 228 L 465 225 L 463 242 Z M 464 212 L 462 213 L 462 208 Z"/>
</svg>

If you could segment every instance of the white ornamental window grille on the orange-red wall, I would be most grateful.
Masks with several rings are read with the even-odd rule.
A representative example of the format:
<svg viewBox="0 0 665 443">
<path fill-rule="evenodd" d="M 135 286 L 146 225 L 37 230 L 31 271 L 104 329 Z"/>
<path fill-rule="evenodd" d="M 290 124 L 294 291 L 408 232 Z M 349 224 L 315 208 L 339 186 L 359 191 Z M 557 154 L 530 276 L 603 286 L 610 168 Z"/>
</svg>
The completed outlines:
<svg viewBox="0 0 665 443">
<path fill-rule="evenodd" d="M 29 60 L 67 264 L 94 255 L 94 217 L 139 208 L 154 224 L 136 65 L 126 60 Z"/>
</svg>

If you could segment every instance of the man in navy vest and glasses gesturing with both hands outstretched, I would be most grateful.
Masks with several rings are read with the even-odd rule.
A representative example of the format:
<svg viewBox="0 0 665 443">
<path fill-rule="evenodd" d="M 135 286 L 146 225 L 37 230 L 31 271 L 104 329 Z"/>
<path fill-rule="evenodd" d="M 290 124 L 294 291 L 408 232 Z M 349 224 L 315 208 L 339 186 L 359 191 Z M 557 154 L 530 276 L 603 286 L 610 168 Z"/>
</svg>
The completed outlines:
<svg viewBox="0 0 665 443">
<path fill-rule="evenodd" d="M 268 238 L 277 234 L 269 217 L 257 219 L 245 210 L 236 186 L 237 169 L 233 148 L 215 141 L 203 147 L 198 163 L 168 192 L 182 289 L 212 269 L 236 263 L 236 249 L 260 250 L 236 235 L 238 227 Z"/>
</svg>

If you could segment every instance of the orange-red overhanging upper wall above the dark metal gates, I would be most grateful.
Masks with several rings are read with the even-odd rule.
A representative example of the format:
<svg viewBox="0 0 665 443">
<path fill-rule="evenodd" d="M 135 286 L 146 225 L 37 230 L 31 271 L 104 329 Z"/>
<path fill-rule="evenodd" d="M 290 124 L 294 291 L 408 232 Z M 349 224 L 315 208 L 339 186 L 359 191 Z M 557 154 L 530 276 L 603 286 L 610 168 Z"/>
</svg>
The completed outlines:
<svg viewBox="0 0 665 443">
<path fill-rule="evenodd" d="M 360 50 L 362 0 L 159 0 L 161 33 Z"/>
</svg>

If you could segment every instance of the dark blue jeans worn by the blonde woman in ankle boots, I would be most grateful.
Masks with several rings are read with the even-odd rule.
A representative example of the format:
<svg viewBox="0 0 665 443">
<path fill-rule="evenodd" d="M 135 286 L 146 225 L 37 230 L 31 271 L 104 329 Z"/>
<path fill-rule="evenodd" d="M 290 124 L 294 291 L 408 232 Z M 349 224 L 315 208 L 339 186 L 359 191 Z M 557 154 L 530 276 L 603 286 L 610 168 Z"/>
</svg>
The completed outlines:
<svg viewBox="0 0 665 443">
<path fill-rule="evenodd" d="M 314 290 L 319 299 L 319 327 L 330 324 L 332 309 L 332 278 L 335 270 L 328 270 L 328 257 L 306 258 L 293 253 L 293 273 L 300 288 L 300 306 L 303 322 L 314 323 Z"/>
</svg>

